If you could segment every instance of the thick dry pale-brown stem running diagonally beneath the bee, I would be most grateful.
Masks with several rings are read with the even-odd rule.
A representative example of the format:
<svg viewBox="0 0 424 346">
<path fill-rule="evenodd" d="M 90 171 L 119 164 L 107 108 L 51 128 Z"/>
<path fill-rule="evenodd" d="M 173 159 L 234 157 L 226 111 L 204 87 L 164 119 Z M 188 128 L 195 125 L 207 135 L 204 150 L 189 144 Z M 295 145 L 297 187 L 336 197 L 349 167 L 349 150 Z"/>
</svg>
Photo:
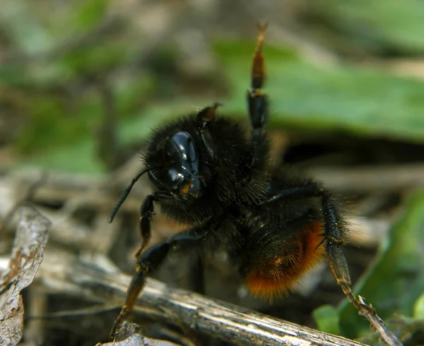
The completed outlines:
<svg viewBox="0 0 424 346">
<path fill-rule="evenodd" d="M 122 299 L 130 281 L 128 275 L 116 268 L 86 266 L 64 251 L 48 251 L 40 269 L 40 279 L 53 292 L 108 303 L 111 295 Z M 156 315 L 167 323 L 183 323 L 236 345 L 363 345 L 200 294 L 175 290 L 152 279 L 147 281 L 138 302 L 158 311 L 170 311 L 171 314 Z"/>
</svg>

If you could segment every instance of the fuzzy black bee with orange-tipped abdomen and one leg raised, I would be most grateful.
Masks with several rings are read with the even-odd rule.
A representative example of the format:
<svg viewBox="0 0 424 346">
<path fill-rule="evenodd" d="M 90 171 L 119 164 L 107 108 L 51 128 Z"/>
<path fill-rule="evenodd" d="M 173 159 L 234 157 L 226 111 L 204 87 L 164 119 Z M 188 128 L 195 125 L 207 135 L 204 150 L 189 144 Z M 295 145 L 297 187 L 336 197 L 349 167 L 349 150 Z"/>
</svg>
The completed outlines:
<svg viewBox="0 0 424 346">
<path fill-rule="evenodd" d="M 225 249 L 249 292 L 267 299 L 292 290 L 308 270 L 326 259 L 348 299 L 363 309 L 351 290 L 342 250 L 348 227 L 330 191 L 313 179 L 290 174 L 284 165 L 270 164 L 269 100 L 262 90 L 265 30 L 266 25 L 259 25 L 247 90 L 250 136 L 236 121 L 217 114 L 219 103 L 155 129 L 143 157 L 145 168 L 112 210 L 109 222 L 147 173 L 155 191 L 140 207 L 137 273 L 112 335 L 131 314 L 146 278 L 176 248 Z M 163 214 L 193 226 L 148 247 L 155 203 Z"/>
</svg>

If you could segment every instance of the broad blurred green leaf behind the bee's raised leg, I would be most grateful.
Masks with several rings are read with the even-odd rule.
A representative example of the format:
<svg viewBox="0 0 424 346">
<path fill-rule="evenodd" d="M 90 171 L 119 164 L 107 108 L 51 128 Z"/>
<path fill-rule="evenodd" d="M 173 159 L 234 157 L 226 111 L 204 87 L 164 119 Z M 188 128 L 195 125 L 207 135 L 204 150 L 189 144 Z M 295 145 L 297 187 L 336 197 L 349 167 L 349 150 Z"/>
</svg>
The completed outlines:
<svg viewBox="0 0 424 346">
<path fill-rule="evenodd" d="M 253 48 L 237 42 L 216 45 L 232 90 L 224 112 L 242 119 Z M 424 142 L 422 81 L 370 68 L 315 66 L 272 47 L 264 52 L 271 126 Z"/>
</svg>

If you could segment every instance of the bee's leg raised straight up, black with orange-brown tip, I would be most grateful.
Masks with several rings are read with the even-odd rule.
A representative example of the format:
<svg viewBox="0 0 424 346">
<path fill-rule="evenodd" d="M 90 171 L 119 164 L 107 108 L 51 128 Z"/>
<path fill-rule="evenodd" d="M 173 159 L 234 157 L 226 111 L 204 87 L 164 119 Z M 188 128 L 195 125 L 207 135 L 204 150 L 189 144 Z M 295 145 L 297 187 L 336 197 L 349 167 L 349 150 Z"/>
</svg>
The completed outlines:
<svg viewBox="0 0 424 346">
<path fill-rule="evenodd" d="M 261 91 L 265 80 L 265 56 L 262 54 L 266 25 L 259 25 L 257 48 L 252 64 L 252 89 L 247 90 L 247 105 L 250 124 L 252 124 L 253 158 L 252 167 L 264 165 L 266 152 L 264 125 L 268 118 L 268 98 Z"/>
</svg>

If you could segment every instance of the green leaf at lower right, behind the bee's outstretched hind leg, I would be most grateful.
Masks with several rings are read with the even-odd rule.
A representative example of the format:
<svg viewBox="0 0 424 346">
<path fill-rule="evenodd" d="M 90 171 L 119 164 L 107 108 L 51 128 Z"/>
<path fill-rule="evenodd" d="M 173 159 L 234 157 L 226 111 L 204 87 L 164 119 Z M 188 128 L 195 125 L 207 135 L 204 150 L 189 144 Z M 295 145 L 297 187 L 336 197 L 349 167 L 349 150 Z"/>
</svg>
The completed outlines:
<svg viewBox="0 0 424 346">
<path fill-rule="evenodd" d="M 355 286 L 355 294 L 365 297 L 387 320 L 394 314 L 420 314 L 418 298 L 424 292 L 424 191 L 418 191 L 405 205 L 404 215 L 391 229 L 372 266 Z M 418 310 L 417 310 L 418 309 Z M 340 306 L 341 328 L 350 338 L 367 335 L 367 321 L 353 306 Z"/>
</svg>

